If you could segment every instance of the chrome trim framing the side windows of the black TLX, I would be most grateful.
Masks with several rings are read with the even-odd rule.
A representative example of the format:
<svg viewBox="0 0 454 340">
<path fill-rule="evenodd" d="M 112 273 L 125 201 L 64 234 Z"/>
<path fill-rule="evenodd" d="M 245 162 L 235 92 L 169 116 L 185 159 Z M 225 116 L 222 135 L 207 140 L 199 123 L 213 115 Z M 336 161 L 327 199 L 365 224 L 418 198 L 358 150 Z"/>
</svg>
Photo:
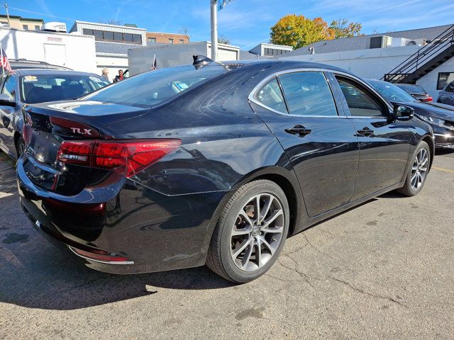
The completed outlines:
<svg viewBox="0 0 454 340">
<path fill-rule="evenodd" d="M 292 115 L 291 113 L 284 113 L 284 112 L 280 112 L 280 111 L 277 111 L 277 110 L 274 110 L 266 105 L 264 105 L 263 103 L 260 103 L 260 101 L 258 101 L 257 99 L 254 98 L 255 94 L 257 93 L 257 91 L 262 87 L 264 86 L 267 81 L 270 81 L 270 79 L 272 78 L 276 78 L 276 77 L 279 77 L 281 76 L 282 74 L 289 74 L 289 73 L 299 73 L 299 72 L 329 72 L 329 73 L 332 73 L 335 77 L 336 77 L 336 74 L 339 74 L 343 77 L 346 77 L 346 78 L 350 78 L 350 79 L 353 79 L 355 81 L 358 81 L 362 86 L 365 86 L 369 91 L 372 91 L 373 94 L 375 94 L 378 98 L 380 98 L 382 101 L 384 101 L 384 103 L 386 104 L 387 108 L 389 108 L 389 111 L 390 113 L 392 112 L 393 108 L 392 106 L 389 105 L 388 101 L 386 99 L 384 99 L 377 91 L 375 91 L 375 89 L 370 85 L 368 84 L 366 81 L 360 79 L 359 77 L 356 77 L 354 76 L 353 74 L 349 74 L 347 72 L 342 72 L 342 71 L 338 71 L 338 70 L 335 70 L 335 69 L 324 69 L 324 68 L 314 68 L 314 67 L 307 67 L 307 68 L 297 68 L 297 69 L 283 69 L 281 71 L 278 71 L 278 72 L 275 72 L 273 74 L 270 74 L 268 75 L 267 77 L 265 77 L 264 79 L 262 79 L 253 89 L 253 91 L 250 91 L 250 94 L 248 96 L 248 100 L 249 101 L 252 101 L 253 103 L 257 104 L 258 106 L 262 106 L 262 108 L 266 108 L 267 110 L 270 110 L 272 112 L 275 112 L 275 113 L 279 113 L 279 115 L 287 115 L 287 116 L 291 116 L 291 117 L 313 117 L 313 118 L 373 118 L 373 119 L 376 119 L 376 118 L 386 118 L 386 117 L 383 117 L 383 116 L 376 116 L 376 115 L 372 115 L 372 116 L 357 116 L 357 115 Z M 324 74 L 323 74 L 324 75 Z M 324 75 L 325 78 L 326 78 L 326 75 Z M 329 86 L 329 81 L 328 79 L 326 79 L 326 83 L 328 84 Z M 282 90 L 281 90 L 282 91 Z M 333 96 L 333 100 L 336 104 L 336 98 L 334 98 Z"/>
</svg>

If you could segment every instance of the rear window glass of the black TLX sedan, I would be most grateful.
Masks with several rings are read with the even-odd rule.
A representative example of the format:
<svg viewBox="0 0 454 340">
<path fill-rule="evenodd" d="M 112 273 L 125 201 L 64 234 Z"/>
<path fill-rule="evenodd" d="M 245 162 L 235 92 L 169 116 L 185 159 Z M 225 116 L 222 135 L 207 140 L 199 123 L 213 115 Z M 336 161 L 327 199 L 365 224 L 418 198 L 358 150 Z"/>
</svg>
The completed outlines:
<svg viewBox="0 0 454 340">
<path fill-rule="evenodd" d="M 189 87 L 228 72 L 220 66 L 195 69 L 194 66 L 170 67 L 138 74 L 85 96 L 84 99 L 129 106 L 151 107 Z"/>
</svg>

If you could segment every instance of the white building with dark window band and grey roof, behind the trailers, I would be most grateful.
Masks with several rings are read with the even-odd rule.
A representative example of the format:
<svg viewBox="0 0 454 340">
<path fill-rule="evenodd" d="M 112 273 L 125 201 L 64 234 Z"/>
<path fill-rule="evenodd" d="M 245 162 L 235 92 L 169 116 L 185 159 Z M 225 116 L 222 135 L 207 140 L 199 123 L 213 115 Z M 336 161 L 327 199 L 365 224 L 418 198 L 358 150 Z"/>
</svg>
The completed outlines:
<svg viewBox="0 0 454 340">
<path fill-rule="evenodd" d="M 75 21 L 70 33 L 89 35 L 96 41 L 96 68 L 109 69 L 112 80 L 118 69 L 128 69 L 128 50 L 147 45 L 147 31 L 134 25 L 118 26 L 106 23 Z"/>
</svg>

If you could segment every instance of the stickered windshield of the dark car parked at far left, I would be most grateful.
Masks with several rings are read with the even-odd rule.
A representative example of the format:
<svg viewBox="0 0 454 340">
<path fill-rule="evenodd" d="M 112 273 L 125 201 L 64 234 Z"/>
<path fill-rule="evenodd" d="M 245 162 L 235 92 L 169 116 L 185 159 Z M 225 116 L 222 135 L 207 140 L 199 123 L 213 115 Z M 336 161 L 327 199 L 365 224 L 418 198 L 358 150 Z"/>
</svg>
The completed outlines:
<svg viewBox="0 0 454 340">
<path fill-rule="evenodd" d="M 23 103 L 44 103 L 77 98 L 108 84 L 96 74 L 36 74 L 21 76 Z"/>
</svg>

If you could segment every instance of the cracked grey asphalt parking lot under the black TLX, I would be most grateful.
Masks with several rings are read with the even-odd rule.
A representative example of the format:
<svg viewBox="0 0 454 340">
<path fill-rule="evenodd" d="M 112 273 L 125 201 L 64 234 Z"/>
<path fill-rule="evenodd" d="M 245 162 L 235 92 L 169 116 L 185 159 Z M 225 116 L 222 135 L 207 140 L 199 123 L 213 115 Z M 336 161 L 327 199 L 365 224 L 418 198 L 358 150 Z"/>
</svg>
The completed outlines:
<svg viewBox="0 0 454 340">
<path fill-rule="evenodd" d="M 114 276 L 35 232 L 0 154 L 0 339 L 454 339 L 454 154 L 287 240 L 262 278 L 209 269 Z"/>
</svg>

